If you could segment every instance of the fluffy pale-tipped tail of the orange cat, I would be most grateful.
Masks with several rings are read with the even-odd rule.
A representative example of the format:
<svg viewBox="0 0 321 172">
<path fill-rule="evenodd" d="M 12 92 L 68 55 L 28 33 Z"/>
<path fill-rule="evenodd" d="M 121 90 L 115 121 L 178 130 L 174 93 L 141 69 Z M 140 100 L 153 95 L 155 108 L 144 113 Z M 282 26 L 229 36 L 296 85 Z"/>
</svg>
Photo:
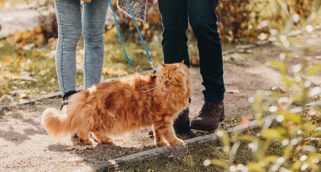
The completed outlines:
<svg viewBox="0 0 321 172">
<path fill-rule="evenodd" d="M 41 124 L 45 127 L 48 135 L 66 136 L 74 133 L 77 128 L 72 123 L 74 115 L 68 115 L 55 108 L 47 108 L 42 113 Z"/>
</svg>

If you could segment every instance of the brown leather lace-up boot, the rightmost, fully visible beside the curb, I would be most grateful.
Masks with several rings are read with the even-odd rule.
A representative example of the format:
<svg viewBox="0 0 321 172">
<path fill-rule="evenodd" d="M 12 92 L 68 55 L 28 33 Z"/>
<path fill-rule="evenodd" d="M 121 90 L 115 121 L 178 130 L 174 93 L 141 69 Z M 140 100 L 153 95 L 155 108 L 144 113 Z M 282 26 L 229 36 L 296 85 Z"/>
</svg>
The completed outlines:
<svg viewBox="0 0 321 172">
<path fill-rule="evenodd" d="M 191 122 L 191 129 L 211 131 L 217 129 L 224 117 L 224 102 L 205 102 L 201 112 Z"/>
</svg>

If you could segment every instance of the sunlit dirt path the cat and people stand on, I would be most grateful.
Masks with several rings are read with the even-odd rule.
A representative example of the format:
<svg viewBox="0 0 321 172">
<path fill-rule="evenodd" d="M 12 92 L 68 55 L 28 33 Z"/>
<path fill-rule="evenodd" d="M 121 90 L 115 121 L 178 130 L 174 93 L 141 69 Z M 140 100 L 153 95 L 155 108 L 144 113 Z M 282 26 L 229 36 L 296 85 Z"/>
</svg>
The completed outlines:
<svg viewBox="0 0 321 172">
<path fill-rule="evenodd" d="M 321 37 L 321 33 L 317 33 Z M 320 39 L 314 43 L 320 43 Z M 224 56 L 224 80 L 226 90 L 240 93 L 225 94 L 225 124 L 233 126 L 246 114 L 253 114 L 247 99 L 257 89 L 267 90 L 279 86 L 280 74 L 264 65 L 267 59 L 277 59 L 281 50 L 276 46 L 266 46 L 252 50 L 251 54 L 235 53 Z M 318 51 L 309 63 L 321 63 Z M 316 57 L 317 56 L 317 57 Z M 190 119 L 194 118 L 203 104 L 201 76 L 199 68 L 191 68 L 194 94 L 190 105 Z M 319 82 L 321 76 L 313 81 Z M 33 105 L 20 105 L 5 112 L 0 118 L 0 171 L 66 171 L 95 163 L 103 163 L 111 158 L 132 154 L 154 147 L 149 129 L 133 132 L 122 138 L 115 138 L 115 144 L 97 144 L 91 150 L 66 150 L 79 141 L 71 138 L 49 138 L 40 125 L 40 116 L 47 107 L 60 106 L 61 100 L 54 98 Z M 232 121 L 231 118 L 236 120 Z M 194 134 L 204 134 L 193 131 Z"/>
</svg>

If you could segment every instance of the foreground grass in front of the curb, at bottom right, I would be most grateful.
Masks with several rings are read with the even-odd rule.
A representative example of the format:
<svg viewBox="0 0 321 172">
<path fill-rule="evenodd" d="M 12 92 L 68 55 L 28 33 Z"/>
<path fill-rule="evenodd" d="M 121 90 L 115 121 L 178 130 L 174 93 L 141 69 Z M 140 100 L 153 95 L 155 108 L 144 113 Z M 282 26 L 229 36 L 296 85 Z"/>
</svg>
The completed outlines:
<svg viewBox="0 0 321 172">
<path fill-rule="evenodd" d="M 319 123 L 315 122 L 316 117 L 309 116 L 308 114 L 300 114 L 301 119 L 307 125 L 318 125 Z M 274 122 L 270 127 L 275 128 L 279 127 L 280 123 Z M 255 136 L 259 131 L 248 132 L 250 135 Z M 297 145 L 294 146 L 294 149 L 291 150 L 291 156 L 287 159 L 288 165 L 293 164 L 298 160 L 302 155 L 308 155 L 309 152 L 299 151 L 296 152 L 295 148 L 299 145 L 313 145 L 317 150 L 317 153 L 320 153 L 321 147 L 318 141 L 306 142 L 304 139 L 308 137 L 318 137 L 316 133 L 306 132 L 302 136 L 302 140 L 299 141 Z M 260 144 L 263 144 L 267 141 L 264 137 L 258 137 L 261 140 Z M 277 156 L 282 157 L 285 146 L 282 146 L 282 140 L 273 139 L 270 140 L 268 148 L 265 150 L 266 156 Z M 240 140 L 240 146 L 235 155 L 234 161 L 229 162 L 229 155 L 222 150 L 222 144 L 209 142 L 204 146 L 198 145 L 193 148 L 191 151 L 186 151 L 182 154 L 177 155 L 178 158 L 174 159 L 169 157 L 169 154 L 163 155 L 161 158 L 138 161 L 133 160 L 125 164 L 115 165 L 109 167 L 108 171 L 229 171 L 229 165 L 227 167 L 219 167 L 216 165 L 204 166 L 203 162 L 205 159 L 218 159 L 227 164 L 243 164 L 247 165 L 250 162 L 257 162 L 258 159 L 252 153 L 252 150 L 248 148 L 249 141 Z M 321 163 L 317 164 L 321 167 Z M 268 164 L 265 166 L 265 170 L 268 171 L 273 164 Z"/>
</svg>

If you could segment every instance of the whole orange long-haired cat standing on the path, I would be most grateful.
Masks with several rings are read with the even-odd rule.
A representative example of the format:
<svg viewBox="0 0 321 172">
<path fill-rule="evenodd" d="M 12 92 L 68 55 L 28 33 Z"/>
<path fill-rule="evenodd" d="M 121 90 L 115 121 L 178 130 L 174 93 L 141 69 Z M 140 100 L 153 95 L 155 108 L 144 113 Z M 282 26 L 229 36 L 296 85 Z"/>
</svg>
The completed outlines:
<svg viewBox="0 0 321 172">
<path fill-rule="evenodd" d="M 160 63 L 162 68 L 155 75 L 135 74 L 91 86 L 71 95 L 62 111 L 47 108 L 41 123 L 53 136 L 77 131 L 83 144 L 91 144 L 90 133 L 100 143 L 112 143 L 110 136 L 152 125 L 156 145 L 183 145 L 173 128 L 192 92 L 190 73 L 183 62 Z"/>
</svg>

